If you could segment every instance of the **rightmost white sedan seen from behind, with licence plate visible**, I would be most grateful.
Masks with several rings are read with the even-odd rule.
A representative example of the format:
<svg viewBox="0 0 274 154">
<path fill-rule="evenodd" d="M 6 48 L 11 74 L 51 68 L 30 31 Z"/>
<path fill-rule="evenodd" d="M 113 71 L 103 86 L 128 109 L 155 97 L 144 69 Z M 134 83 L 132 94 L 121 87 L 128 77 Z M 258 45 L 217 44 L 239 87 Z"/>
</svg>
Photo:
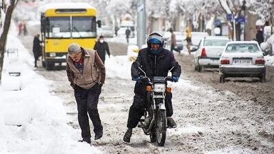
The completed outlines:
<svg viewBox="0 0 274 154">
<path fill-rule="evenodd" d="M 265 81 L 264 55 L 256 41 L 228 42 L 220 58 L 220 82 L 225 77 L 258 77 Z"/>
</svg>

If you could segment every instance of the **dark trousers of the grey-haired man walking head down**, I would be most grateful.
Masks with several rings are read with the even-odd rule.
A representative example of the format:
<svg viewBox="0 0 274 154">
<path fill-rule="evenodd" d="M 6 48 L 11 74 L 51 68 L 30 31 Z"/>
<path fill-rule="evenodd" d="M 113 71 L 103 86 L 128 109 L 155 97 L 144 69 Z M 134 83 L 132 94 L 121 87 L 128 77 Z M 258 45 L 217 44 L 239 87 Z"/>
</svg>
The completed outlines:
<svg viewBox="0 0 274 154">
<path fill-rule="evenodd" d="M 97 105 L 99 95 L 101 94 L 101 86 L 95 84 L 89 90 L 75 86 L 74 95 L 77 102 L 78 122 L 82 130 L 82 138 L 90 138 L 90 125 L 88 115 L 93 124 L 95 134 L 103 131 Z"/>
</svg>

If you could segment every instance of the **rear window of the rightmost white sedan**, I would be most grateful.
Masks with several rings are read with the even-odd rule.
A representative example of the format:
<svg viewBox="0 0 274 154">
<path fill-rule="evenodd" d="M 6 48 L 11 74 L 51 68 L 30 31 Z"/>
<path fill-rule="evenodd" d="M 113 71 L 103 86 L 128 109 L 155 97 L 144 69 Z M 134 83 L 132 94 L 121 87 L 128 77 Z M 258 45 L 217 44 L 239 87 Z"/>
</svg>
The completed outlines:
<svg viewBox="0 0 274 154">
<path fill-rule="evenodd" d="M 225 52 L 227 53 L 256 53 L 258 52 L 258 46 L 257 44 L 253 43 L 245 43 L 245 44 L 228 44 L 227 49 L 225 49 Z"/>
</svg>

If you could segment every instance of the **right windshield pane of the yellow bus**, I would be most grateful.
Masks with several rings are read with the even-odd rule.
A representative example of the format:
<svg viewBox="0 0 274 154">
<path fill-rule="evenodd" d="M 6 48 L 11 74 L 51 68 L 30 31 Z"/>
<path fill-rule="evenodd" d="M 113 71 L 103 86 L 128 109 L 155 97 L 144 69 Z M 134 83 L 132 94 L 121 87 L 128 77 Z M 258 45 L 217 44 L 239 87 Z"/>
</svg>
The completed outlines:
<svg viewBox="0 0 274 154">
<path fill-rule="evenodd" d="M 96 38 L 96 18 L 92 16 L 72 17 L 73 38 Z"/>
</svg>

